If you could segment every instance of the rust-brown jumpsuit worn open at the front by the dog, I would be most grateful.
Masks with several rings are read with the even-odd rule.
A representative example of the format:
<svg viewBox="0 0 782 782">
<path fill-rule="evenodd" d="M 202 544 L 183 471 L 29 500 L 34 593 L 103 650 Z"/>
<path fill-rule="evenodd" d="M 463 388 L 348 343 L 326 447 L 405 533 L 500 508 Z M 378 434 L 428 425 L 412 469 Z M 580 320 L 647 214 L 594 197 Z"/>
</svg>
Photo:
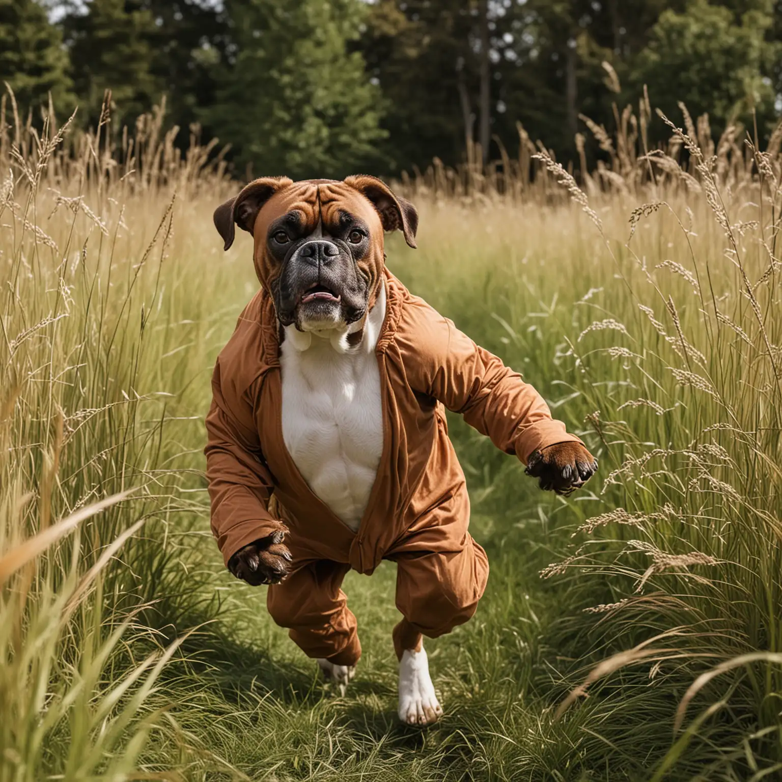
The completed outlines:
<svg viewBox="0 0 782 782">
<path fill-rule="evenodd" d="M 217 359 L 206 418 L 212 531 L 225 562 L 282 520 L 294 561 L 291 575 L 269 587 L 269 612 L 307 655 L 339 665 L 361 656 L 340 589 L 351 568 L 371 573 L 382 559 L 396 561 L 396 607 L 406 625 L 395 631 L 398 655 L 403 636 L 437 637 L 466 622 L 486 587 L 486 553 L 467 531 L 465 475 L 443 407 L 524 462 L 533 450 L 580 442 L 518 373 L 387 270 L 384 282 L 386 320 L 375 348 L 383 449 L 357 532 L 315 496 L 285 448 L 278 321 L 265 291 Z"/>
</svg>

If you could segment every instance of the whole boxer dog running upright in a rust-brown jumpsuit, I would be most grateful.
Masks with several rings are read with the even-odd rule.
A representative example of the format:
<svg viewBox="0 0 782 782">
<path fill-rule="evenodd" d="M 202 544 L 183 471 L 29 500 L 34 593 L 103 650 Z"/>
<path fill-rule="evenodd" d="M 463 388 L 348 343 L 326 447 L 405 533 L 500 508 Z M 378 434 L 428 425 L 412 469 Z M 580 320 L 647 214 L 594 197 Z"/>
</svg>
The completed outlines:
<svg viewBox="0 0 782 782">
<path fill-rule="evenodd" d="M 475 612 L 488 576 L 469 536 L 445 407 L 567 494 L 597 469 L 532 386 L 386 269 L 384 231 L 415 247 L 418 213 L 382 181 L 260 178 L 214 213 L 253 237 L 261 290 L 213 375 L 212 529 L 228 569 L 269 584 L 274 621 L 344 691 L 361 656 L 340 589 L 397 565 L 399 716 L 439 705 L 422 636 Z"/>
</svg>

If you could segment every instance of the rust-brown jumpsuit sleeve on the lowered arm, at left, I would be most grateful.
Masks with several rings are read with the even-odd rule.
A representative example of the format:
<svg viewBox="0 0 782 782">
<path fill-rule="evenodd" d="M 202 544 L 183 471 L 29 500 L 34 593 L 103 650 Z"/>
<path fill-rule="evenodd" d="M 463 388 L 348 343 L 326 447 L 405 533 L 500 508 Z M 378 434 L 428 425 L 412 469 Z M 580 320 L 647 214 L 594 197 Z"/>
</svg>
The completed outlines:
<svg viewBox="0 0 782 782">
<path fill-rule="evenodd" d="M 230 392 L 230 384 L 227 390 Z M 285 529 L 267 509 L 274 481 L 264 463 L 252 407 L 235 396 L 224 393 L 218 359 L 212 378 L 212 406 L 206 416 L 204 453 L 212 533 L 226 565 L 243 546 Z"/>
</svg>

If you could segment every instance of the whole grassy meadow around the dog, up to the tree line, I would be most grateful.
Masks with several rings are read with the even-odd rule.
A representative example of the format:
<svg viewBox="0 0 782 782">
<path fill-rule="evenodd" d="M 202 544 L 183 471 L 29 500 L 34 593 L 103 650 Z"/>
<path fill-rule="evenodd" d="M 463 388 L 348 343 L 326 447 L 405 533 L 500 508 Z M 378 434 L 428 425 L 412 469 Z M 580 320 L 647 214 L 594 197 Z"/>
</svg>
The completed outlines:
<svg viewBox="0 0 782 782">
<path fill-rule="evenodd" d="M 389 236 L 393 273 L 601 465 L 554 497 L 452 417 L 491 575 L 427 644 L 423 731 L 396 718 L 391 563 L 346 579 L 341 697 L 211 539 L 210 373 L 257 288 L 212 225 L 219 156 L 160 116 L 116 145 L 0 127 L 2 782 L 779 777 L 782 131 L 685 113 L 644 156 L 641 106 L 579 185 L 523 131 L 399 184 L 419 249 Z"/>
</svg>

